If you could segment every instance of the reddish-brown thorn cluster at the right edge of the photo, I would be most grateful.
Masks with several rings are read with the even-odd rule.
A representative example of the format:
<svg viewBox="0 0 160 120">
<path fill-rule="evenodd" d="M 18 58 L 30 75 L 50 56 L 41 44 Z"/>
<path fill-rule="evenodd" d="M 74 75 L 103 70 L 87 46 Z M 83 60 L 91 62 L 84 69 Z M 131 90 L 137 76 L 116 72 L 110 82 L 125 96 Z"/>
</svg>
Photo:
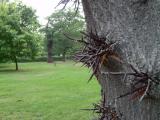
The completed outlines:
<svg viewBox="0 0 160 120">
<path fill-rule="evenodd" d="M 121 95 L 118 98 L 131 95 L 132 99 L 140 97 L 140 101 L 142 101 L 146 95 L 149 95 L 152 85 L 160 84 L 160 79 L 157 78 L 156 74 L 150 74 L 149 72 L 139 71 L 136 68 L 134 68 L 132 65 L 130 65 L 130 67 L 133 71 L 133 73 L 128 74 L 133 76 L 132 83 L 131 83 L 132 84 L 131 91 L 129 91 L 124 95 Z"/>
</svg>

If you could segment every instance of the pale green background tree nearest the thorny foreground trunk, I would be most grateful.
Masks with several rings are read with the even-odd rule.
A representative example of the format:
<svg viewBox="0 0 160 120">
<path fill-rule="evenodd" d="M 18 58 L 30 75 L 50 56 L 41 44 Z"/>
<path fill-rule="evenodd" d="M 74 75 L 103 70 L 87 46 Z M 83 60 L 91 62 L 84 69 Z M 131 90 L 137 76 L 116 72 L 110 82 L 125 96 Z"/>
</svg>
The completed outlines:
<svg viewBox="0 0 160 120">
<path fill-rule="evenodd" d="M 66 54 L 71 54 L 77 50 L 78 46 L 70 39 L 66 38 L 64 34 L 70 35 L 74 38 L 80 38 L 80 31 L 84 30 L 84 19 L 78 12 L 75 16 L 75 12 L 69 10 L 59 10 L 49 16 L 49 31 L 52 36 L 52 43 L 47 43 L 47 46 L 53 44 L 53 54 L 56 56 L 63 56 L 65 61 Z M 49 46 L 48 46 L 49 47 Z M 48 49 L 50 50 L 50 49 Z M 49 51 L 48 51 L 49 52 Z"/>
</svg>

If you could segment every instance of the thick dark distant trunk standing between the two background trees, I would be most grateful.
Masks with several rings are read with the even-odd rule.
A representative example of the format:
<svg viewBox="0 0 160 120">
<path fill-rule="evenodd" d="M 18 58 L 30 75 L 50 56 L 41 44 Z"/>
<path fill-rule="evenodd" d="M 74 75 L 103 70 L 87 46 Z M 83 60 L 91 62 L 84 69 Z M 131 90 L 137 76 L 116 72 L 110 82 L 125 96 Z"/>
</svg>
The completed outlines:
<svg viewBox="0 0 160 120">
<path fill-rule="evenodd" d="M 48 38 L 48 43 L 47 43 L 47 52 L 48 52 L 48 63 L 52 63 L 53 62 L 53 41 L 50 40 L 50 38 Z"/>
</svg>

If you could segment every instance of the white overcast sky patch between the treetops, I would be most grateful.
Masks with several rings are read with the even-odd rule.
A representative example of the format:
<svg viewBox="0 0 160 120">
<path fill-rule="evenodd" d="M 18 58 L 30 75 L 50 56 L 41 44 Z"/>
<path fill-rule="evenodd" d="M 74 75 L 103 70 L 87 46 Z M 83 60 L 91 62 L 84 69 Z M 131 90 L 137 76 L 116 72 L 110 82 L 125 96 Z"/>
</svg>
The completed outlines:
<svg viewBox="0 0 160 120">
<path fill-rule="evenodd" d="M 60 0 L 21 0 L 24 4 L 31 6 L 36 10 L 36 15 L 40 21 L 40 24 L 45 25 L 46 17 L 51 15 Z"/>
</svg>

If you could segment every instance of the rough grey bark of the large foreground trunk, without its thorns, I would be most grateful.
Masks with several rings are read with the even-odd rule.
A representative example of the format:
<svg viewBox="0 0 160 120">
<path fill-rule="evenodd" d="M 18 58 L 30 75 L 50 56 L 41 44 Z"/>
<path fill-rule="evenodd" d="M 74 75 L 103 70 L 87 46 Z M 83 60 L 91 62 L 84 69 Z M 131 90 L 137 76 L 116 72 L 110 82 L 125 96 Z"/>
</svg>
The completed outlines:
<svg viewBox="0 0 160 120">
<path fill-rule="evenodd" d="M 118 52 L 124 61 L 139 69 L 160 70 L 160 0 L 82 0 L 87 31 L 96 29 L 100 36 L 120 41 Z M 102 71 L 129 71 L 109 61 Z M 122 76 L 101 75 L 99 82 L 106 95 L 106 103 L 130 90 Z M 118 99 L 114 105 L 126 120 L 160 120 L 160 90 L 152 98 L 139 102 L 128 97 Z M 104 119 L 105 120 L 105 119 Z"/>
</svg>

